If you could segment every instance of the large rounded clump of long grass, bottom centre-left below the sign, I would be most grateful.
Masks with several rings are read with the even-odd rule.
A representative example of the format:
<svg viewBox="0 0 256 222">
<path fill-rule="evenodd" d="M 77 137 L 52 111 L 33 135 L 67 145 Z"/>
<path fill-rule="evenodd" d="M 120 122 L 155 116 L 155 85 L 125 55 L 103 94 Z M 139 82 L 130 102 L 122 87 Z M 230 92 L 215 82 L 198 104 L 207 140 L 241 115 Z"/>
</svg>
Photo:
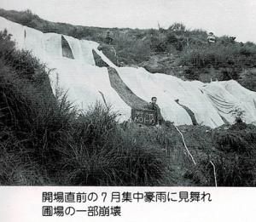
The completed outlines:
<svg viewBox="0 0 256 222">
<path fill-rule="evenodd" d="M 137 133 L 124 130 L 115 114 L 96 105 L 79 117 L 75 145 L 63 153 L 67 181 L 75 185 L 159 185 L 165 159 Z M 69 178 L 69 179 L 68 179 Z"/>
</svg>

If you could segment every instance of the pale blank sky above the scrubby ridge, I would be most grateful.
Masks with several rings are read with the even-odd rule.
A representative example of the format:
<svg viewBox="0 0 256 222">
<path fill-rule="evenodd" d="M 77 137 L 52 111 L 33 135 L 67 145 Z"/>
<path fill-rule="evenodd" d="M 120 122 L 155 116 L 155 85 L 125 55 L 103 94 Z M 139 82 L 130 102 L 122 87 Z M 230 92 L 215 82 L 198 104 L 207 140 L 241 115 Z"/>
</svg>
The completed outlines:
<svg viewBox="0 0 256 222">
<path fill-rule="evenodd" d="M 31 9 L 45 20 L 81 26 L 167 28 L 183 22 L 217 36 L 256 43 L 256 0 L 0 0 L 0 8 Z"/>
</svg>

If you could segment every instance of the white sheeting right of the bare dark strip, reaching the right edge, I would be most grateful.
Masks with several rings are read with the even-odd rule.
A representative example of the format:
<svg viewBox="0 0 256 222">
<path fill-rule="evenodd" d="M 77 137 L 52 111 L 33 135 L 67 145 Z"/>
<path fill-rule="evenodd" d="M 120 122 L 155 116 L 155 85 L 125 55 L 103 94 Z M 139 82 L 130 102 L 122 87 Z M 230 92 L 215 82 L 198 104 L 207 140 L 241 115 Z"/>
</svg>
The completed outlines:
<svg viewBox="0 0 256 222">
<path fill-rule="evenodd" d="M 166 74 L 152 74 L 143 68 L 119 67 L 117 71 L 131 91 L 143 100 L 156 96 L 163 117 L 177 125 L 192 123 L 189 114 L 175 102 L 177 99 L 193 111 L 199 124 L 211 128 L 221 126 L 224 120 L 234 123 L 234 111 L 244 111 L 245 122 L 256 122 L 256 93 L 236 81 L 189 82 Z"/>
</svg>

